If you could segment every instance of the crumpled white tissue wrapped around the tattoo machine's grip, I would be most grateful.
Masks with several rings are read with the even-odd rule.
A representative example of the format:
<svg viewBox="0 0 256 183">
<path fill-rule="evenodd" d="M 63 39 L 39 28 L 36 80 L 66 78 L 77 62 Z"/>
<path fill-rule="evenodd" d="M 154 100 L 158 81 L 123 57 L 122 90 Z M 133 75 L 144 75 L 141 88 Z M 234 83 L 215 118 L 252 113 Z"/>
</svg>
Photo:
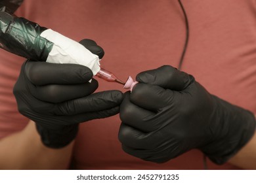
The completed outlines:
<svg viewBox="0 0 256 183">
<path fill-rule="evenodd" d="M 49 53 L 47 62 L 85 65 L 93 71 L 93 75 L 100 71 L 100 59 L 98 56 L 87 50 L 79 42 L 69 39 L 52 29 L 43 31 L 40 36 L 53 42 L 53 49 Z"/>
</svg>

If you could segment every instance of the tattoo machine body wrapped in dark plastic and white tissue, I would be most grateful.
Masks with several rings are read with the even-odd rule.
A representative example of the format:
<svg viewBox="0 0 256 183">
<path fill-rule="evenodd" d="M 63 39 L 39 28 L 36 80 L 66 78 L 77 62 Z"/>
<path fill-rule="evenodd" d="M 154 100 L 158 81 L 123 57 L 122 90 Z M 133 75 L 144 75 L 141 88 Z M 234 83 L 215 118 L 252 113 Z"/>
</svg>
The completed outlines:
<svg viewBox="0 0 256 183">
<path fill-rule="evenodd" d="M 0 47 L 24 58 L 49 63 L 75 63 L 96 75 L 100 59 L 85 46 L 56 31 L 0 10 Z"/>
</svg>

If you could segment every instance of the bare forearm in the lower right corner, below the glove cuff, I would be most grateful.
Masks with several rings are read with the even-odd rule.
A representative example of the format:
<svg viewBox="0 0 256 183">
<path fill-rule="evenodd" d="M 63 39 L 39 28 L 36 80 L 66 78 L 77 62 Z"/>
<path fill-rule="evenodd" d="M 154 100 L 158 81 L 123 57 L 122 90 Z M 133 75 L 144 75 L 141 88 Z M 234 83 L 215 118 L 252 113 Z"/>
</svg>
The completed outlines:
<svg viewBox="0 0 256 183">
<path fill-rule="evenodd" d="M 256 133 L 244 148 L 236 156 L 232 157 L 229 163 L 242 169 L 256 169 Z"/>
</svg>

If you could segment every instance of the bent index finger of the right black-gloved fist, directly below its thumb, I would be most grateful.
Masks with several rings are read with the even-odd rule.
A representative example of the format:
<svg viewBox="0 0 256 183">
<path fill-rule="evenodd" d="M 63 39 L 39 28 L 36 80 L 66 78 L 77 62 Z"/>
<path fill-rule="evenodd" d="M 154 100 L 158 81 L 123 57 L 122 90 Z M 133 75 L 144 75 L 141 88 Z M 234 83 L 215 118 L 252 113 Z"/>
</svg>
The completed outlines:
<svg viewBox="0 0 256 183">
<path fill-rule="evenodd" d="M 146 110 L 158 112 L 169 105 L 175 96 L 175 91 L 161 86 L 138 83 L 131 92 L 131 102 Z"/>
</svg>

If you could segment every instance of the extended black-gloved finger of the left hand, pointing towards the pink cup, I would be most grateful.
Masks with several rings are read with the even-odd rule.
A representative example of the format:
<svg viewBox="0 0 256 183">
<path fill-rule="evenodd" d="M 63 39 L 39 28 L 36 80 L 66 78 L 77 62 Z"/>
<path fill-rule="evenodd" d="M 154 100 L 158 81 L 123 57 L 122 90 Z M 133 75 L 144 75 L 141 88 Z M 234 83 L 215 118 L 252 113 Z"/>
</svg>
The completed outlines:
<svg viewBox="0 0 256 183">
<path fill-rule="evenodd" d="M 123 93 L 118 90 L 98 92 L 86 97 L 56 104 L 52 112 L 58 116 L 100 112 L 119 106 L 122 100 Z"/>
</svg>

